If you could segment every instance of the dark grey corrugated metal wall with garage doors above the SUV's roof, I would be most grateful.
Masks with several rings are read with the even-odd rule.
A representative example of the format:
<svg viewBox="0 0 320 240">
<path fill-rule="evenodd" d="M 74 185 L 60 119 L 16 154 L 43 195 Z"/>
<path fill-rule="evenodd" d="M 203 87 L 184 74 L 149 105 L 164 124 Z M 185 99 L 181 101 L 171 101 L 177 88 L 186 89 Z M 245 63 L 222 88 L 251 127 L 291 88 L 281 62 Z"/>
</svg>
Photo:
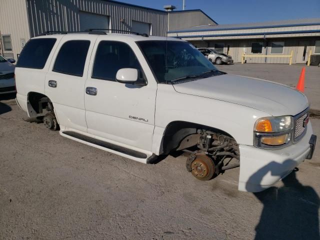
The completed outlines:
<svg viewBox="0 0 320 240">
<path fill-rule="evenodd" d="M 152 23 L 152 35 L 166 35 L 167 14 L 164 11 L 135 7 L 103 0 L 26 0 L 31 36 L 45 31 L 77 31 L 79 11 L 110 18 L 112 29 L 131 30 L 132 20 Z M 123 22 L 120 19 L 124 19 Z M 94 26 L 92 26 L 94 27 Z"/>
</svg>

